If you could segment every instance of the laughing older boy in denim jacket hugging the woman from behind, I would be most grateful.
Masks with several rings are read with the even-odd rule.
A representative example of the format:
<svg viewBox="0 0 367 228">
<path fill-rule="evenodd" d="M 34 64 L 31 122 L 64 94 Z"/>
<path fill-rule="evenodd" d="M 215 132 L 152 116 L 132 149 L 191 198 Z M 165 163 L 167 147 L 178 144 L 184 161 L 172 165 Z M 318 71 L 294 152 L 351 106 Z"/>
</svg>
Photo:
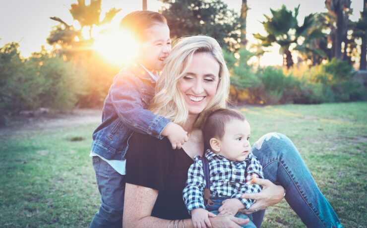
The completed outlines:
<svg viewBox="0 0 367 228">
<path fill-rule="evenodd" d="M 122 227 L 125 153 L 133 131 L 160 139 L 167 136 L 174 149 L 188 140 L 180 125 L 147 110 L 157 71 L 171 52 L 166 18 L 157 12 L 135 11 L 122 19 L 121 27 L 132 33 L 139 50 L 134 63 L 115 76 L 104 102 L 102 124 L 93 132 L 90 156 L 102 202 L 90 227 Z"/>
</svg>

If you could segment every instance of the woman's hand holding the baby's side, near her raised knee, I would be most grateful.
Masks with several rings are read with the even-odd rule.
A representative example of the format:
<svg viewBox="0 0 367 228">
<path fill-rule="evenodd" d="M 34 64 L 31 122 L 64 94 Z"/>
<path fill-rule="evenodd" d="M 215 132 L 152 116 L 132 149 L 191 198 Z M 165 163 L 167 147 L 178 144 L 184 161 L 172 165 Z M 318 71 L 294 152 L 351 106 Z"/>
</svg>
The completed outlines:
<svg viewBox="0 0 367 228">
<path fill-rule="evenodd" d="M 241 197 L 244 199 L 254 199 L 256 202 L 248 210 L 240 210 L 244 214 L 251 214 L 267 207 L 273 206 L 284 198 L 285 190 L 280 185 L 275 185 L 268 179 L 255 179 L 256 184 L 262 185 L 259 193 L 245 193 Z"/>
</svg>

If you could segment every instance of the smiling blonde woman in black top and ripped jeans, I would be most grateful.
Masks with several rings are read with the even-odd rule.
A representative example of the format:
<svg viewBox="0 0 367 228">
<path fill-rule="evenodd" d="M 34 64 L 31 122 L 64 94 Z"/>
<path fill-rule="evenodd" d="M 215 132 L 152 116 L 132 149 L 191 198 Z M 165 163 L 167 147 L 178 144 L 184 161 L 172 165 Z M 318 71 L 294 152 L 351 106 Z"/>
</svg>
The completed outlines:
<svg viewBox="0 0 367 228">
<path fill-rule="evenodd" d="M 192 227 L 182 190 L 194 156 L 204 152 L 200 126 L 206 114 L 224 108 L 229 91 L 229 72 L 221 48 L 213 38 L 181 39 L 167 58 L 151 106 L 189 132 L 189 141 L 173 150 L 167 139 L 134 134 L 126 164 L 124 227 Z M 267 179 L 258 180 L 263 190 L 244 194 L 256 199 L 245 213 L 253 213 L 261 225 L 264 209 L 286 199 L 309 227 L 340 226 L 335 212 L 317 188 L 293 143 L 273 133 L 255 143 L 253 153 Z M 279 185 L 275 185 L 278 183 Z M 302 210 L 302 211 L 301 211 Z M 213 227 L 239 227 L 246 220 L 233 216 L 210 218 Z M 340 226 L 341 227 L 341 226 Z"/>
</svg>

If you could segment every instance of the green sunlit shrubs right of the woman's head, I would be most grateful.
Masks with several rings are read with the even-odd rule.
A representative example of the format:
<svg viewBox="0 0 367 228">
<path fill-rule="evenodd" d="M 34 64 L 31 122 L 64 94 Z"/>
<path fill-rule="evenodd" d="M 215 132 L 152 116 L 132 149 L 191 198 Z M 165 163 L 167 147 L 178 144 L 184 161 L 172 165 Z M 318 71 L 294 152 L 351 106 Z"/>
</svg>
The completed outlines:
<svg viewBox="0 0 367 228">
<path fill-rule="evenodd" d="M 254 69 L 252 55 L 240 51 L 240 59 L 226 53 L 231 71 L 231 101 L 247 104 L 314 104 L 366 100 L 363 86 L 353 80 L 353 67 L 332 59 L 325 65 L 293 70 L 266 66 Z"/>
</svg>

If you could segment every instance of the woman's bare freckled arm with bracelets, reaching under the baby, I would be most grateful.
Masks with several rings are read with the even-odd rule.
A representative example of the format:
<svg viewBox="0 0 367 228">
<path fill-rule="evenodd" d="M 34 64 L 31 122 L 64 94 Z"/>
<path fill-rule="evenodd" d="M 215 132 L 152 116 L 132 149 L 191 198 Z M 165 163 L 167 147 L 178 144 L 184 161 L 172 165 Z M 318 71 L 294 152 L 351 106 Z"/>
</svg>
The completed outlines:
<svg viewBox="0 0 367 228">
<path fill-rule="evenodd" d="M 126 183 L 122 227 L 168 228 L 170 224 L 173 228 L 174 221 L 151 216 L 157 196 L 158 190 Z M 175 205 L 172 206 L 174 207 Z M 176 220 L 176 224 L 178 221 L 179 220 Z M 248 219 L 239 219 L 234 216 L 217 216 L 215 218 L 210 218 L 210 222 L 213 228 L 240 228 L 240 225 L 248 223 Z M 183 220 L 183 223 L 185 228 L 193 228 L 190 219 Z M 179 228 L 183 228 L 182 220 L 180 220 Z"/>
</svg>

